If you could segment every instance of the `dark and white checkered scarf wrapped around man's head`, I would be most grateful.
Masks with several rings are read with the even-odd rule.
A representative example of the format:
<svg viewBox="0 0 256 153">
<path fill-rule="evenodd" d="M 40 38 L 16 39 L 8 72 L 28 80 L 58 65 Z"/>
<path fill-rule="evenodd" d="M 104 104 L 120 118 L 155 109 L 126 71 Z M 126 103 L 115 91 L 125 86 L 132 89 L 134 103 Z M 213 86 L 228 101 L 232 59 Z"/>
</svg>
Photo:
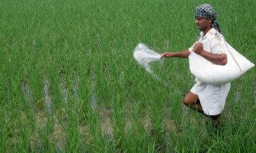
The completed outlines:
<svg viewBox="0 0 256 153">
<path fill-rule="evenodd" d="M 211 4 L 202 4 L 197 6 L 195 8 L 195 17 L 202 17 L 206 18 L 207 20 L 212 20 L 212 27 L 222 34 L 220 25 L 216 21 L 217 13 L 214 8 L 212 8 Z"/>
</svg>

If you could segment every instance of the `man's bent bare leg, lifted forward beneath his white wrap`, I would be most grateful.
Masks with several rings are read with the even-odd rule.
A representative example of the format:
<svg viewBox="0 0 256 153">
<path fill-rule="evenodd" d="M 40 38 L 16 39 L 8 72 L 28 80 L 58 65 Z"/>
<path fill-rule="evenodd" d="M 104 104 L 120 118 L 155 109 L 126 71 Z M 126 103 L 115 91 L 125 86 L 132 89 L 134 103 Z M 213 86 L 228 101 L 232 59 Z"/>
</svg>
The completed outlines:
<svg viewBox="0 0 256 153">
<path fill-rule="evenodd" d="M 189 108 L 192 108 L 193 110 L 196 110 L 199 113 L 204 114 L 203 108 L 200 105 L 200 101 L 198 98 L 198 95 L 193 94 L 193 92 L 189 91 L 188 94 L 186 94 L 184 98 L 184 105 L 188 106 Z"/>
</svg>

